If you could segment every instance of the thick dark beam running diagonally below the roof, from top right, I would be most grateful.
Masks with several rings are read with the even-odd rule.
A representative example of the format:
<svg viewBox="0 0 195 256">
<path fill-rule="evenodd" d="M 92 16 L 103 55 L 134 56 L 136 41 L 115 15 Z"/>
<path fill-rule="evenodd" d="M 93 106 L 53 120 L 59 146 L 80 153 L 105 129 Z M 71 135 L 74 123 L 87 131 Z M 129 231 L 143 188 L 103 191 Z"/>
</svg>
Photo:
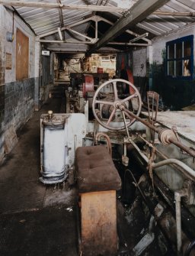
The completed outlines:
<svg viewBox="0 0 195 256">
<path fill-rule="evenodd" d="M 122 34 L 129 27 L 144 20 L 147 16 L 151 15 L 153 11 L 156 11 L 167 2 L 169 2 L 169 0 L 139 0 L 123 15 L 123 17 L 113 24 L 106 33 L 104 33 L 104 36 L 94 44 L 94 47 L 91 47 L 91 49 L 88 50 L 87 55 L 90 55 L 95 50 L 103 47 L 107 42 L 112 41 L 113 38 Z"/>
</svg>

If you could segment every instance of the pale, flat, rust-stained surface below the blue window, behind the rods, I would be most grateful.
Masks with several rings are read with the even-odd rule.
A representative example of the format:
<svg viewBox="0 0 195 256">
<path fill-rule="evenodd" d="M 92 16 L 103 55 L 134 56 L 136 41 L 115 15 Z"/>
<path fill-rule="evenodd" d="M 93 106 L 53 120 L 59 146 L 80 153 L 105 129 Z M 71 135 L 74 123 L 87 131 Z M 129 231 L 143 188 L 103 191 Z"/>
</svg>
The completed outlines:
<svg viewBox="0 0 195 256">
<path fill-rule="evenodd" d="M 148 116 L 146 112 L 143 115 Z M 158 112 L 157 122 L 167 128 L 177 127 L 178 134 L 195 142 L 195 111 Z"/>
</svg>

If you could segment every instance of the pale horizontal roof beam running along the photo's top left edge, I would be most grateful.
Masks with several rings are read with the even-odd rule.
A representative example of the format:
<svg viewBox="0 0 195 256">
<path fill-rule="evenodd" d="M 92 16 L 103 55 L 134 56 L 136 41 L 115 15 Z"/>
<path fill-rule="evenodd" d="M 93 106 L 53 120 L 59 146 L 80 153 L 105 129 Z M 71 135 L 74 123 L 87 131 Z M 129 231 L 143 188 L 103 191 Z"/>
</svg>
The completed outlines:
<svg viewBox="0 0 195 256">
<path fill-rule="evenodd" d="M 33 8 L 62 8 L 69 10 L 83 10 L 83 11 L 107 11 L 107 12 L 120 12 L 127 11 L 126 8 L 104 6 L 104 5 L 63 5 L 60 3 L 50 2 L 26 2 L 26 1 L 10 1 L 1 0 L 0 4 L 14 7 L 33 7 Z"/>
</svg>

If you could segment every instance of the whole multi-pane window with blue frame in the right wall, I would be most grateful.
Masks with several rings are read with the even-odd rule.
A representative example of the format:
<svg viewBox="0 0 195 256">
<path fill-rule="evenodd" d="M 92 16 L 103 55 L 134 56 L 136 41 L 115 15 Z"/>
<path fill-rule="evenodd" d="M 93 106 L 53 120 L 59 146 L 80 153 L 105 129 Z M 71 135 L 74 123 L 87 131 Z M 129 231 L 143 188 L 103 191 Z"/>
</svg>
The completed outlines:
<svg viewBox="0 0 195 256">
<path fill-rule="evenodd" d="M 166 44 L 167 75 L 171 78 L 193 78 L 193 35 Z"/>
</svg>

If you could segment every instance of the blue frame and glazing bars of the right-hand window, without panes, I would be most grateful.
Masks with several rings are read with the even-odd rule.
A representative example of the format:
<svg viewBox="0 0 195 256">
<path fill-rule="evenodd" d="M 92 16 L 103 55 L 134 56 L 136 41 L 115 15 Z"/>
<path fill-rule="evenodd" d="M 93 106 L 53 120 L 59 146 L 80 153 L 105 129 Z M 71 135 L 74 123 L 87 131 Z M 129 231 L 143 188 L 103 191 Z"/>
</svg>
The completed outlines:
<svg viewBox="0 0 195 256">
<path fill-rule="evenodd" d="M 184 43 L 190 42 L 190 56 L 184 57 Z M 177 46 L 179 44 L 182 45 L 181 47 L 181 57 L 177 57 Z M 174 45 L 174 57 L 169 58 L 169 48 L 170 46 Z M 184 60 L 190 61 L 190 76 L 184 76 Z M 174 75 L 169 74 L 169 63 L 173 61 L 174 62 Z M 181 65 L 181 75 L 177 75 L 177 63 L 182 62 Z M 193 35 L 189 35 L 186 37 L 181 37 L 178 39 L 175 39 L 173 41 L 168 41 L 166 43 L 166 76 L 171 79 L 185 79 L 185 80 L 191 80 L 193 79 Z"/>
</svg>

